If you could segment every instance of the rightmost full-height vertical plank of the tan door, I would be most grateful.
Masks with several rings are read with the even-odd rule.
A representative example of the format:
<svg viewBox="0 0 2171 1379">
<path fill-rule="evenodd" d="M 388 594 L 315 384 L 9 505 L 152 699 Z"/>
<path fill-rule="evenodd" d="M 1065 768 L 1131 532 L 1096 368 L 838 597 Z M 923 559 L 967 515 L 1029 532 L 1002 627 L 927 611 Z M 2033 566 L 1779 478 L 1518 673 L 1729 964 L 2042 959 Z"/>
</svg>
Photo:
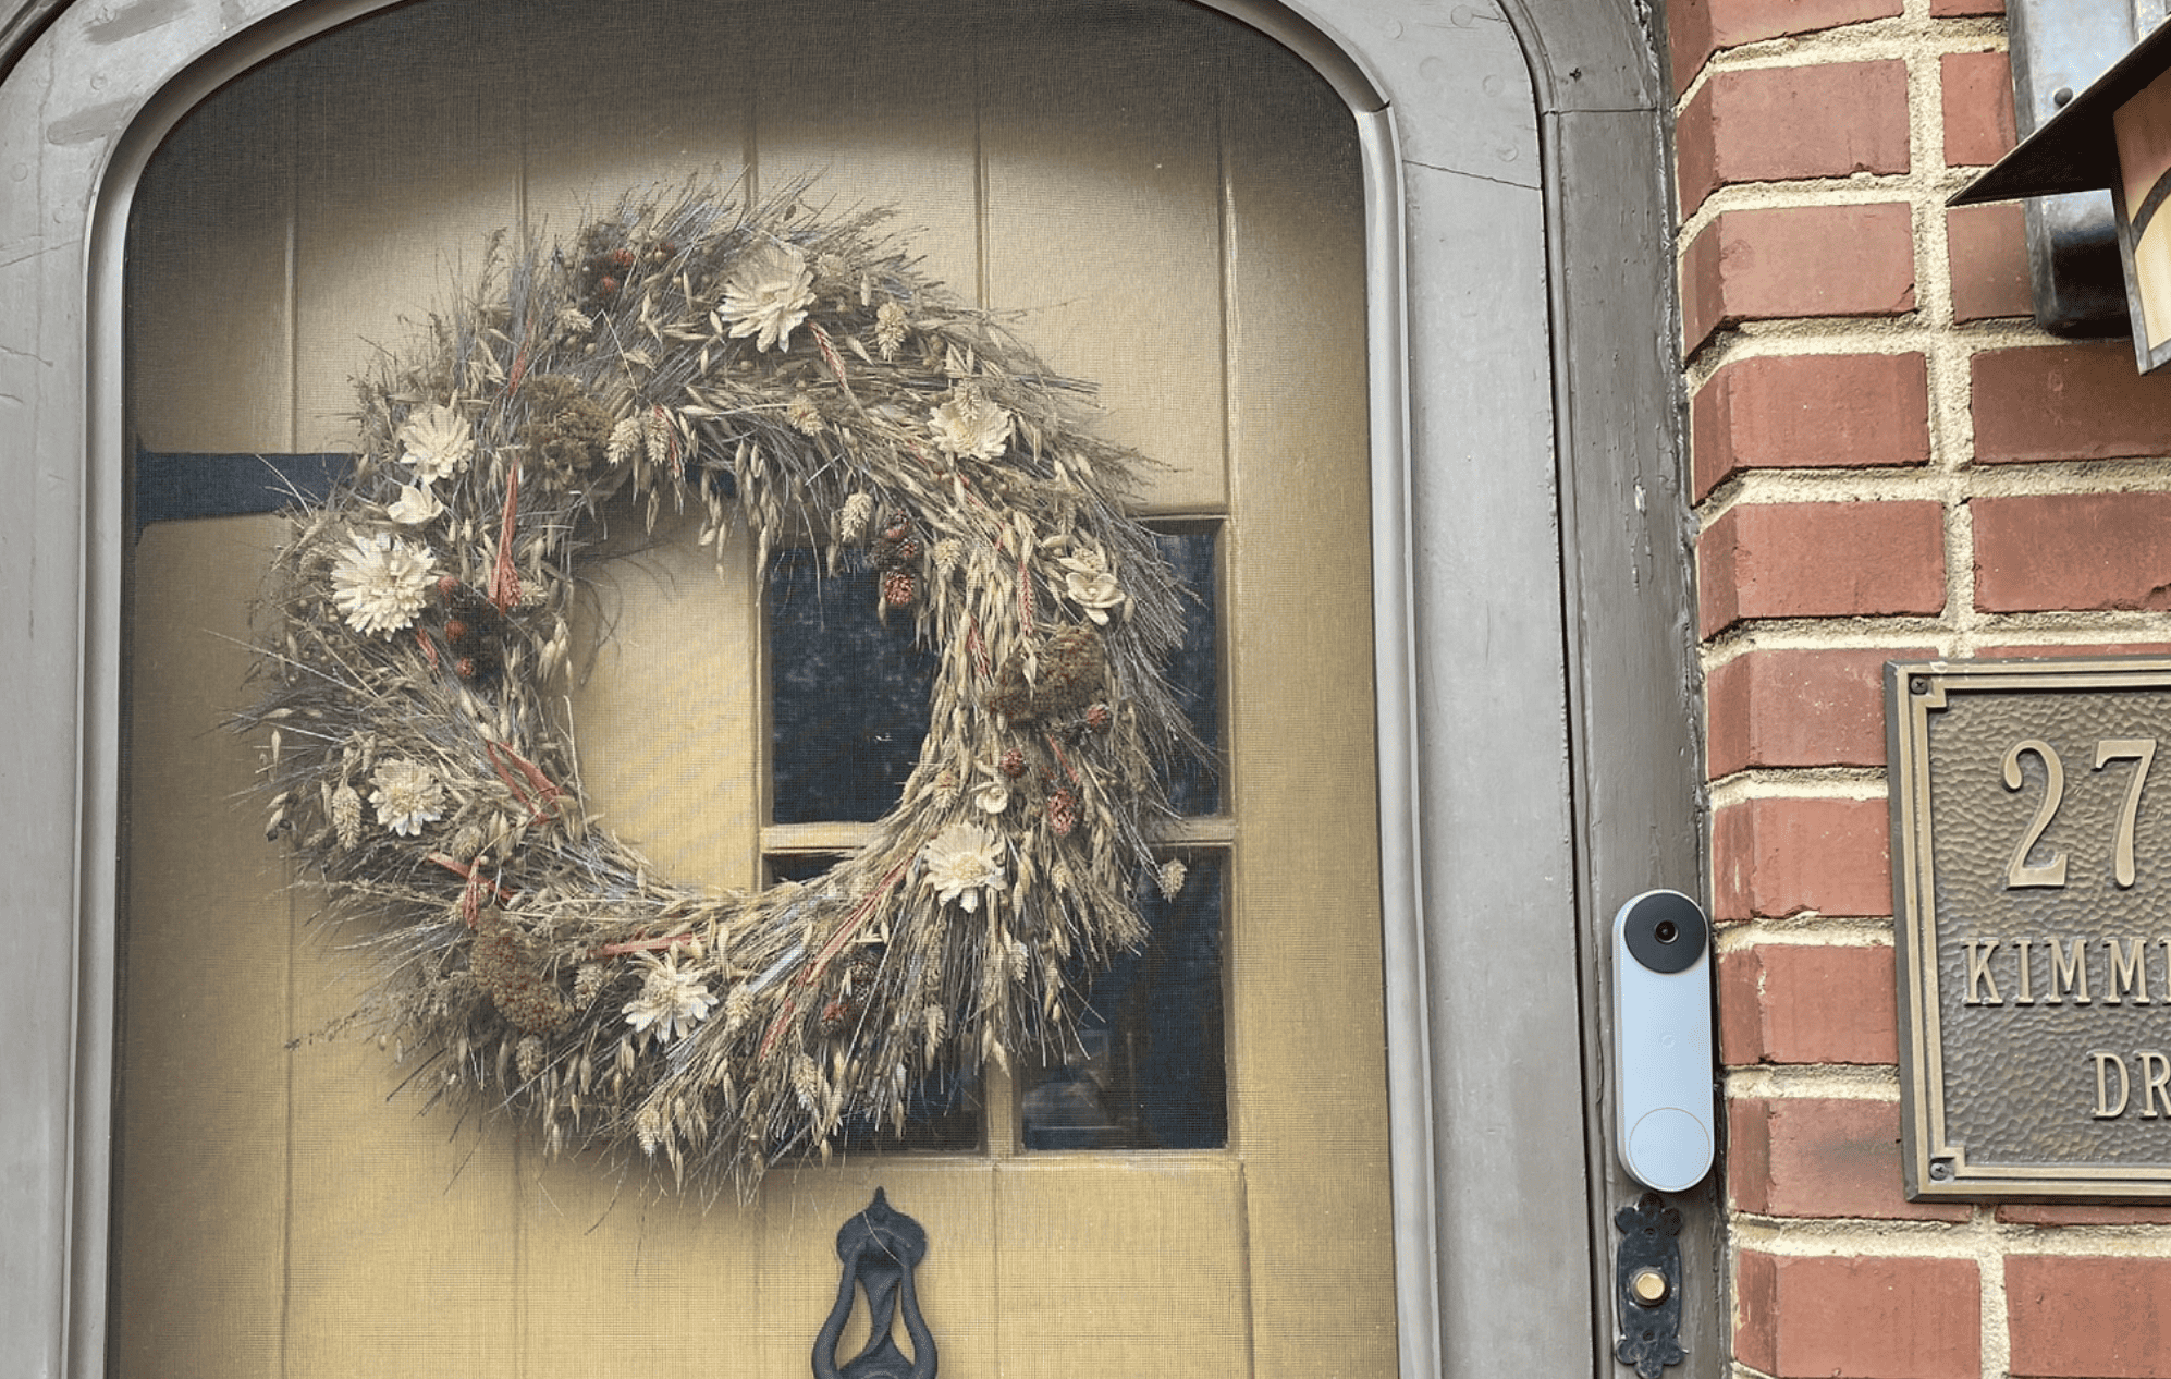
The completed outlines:
<svg viewBox="0 0 2171 1379">
<path fill-rule="evenodd" d="M 1279 50 L 1231 69 L 1229 98 L 1231 712 L 1244 830 L 1231 1051 L 1253 1188 L 1257 1364 L 1259 1375 L 1387 1375 L 1394 1251 L 1355 130 Z"/>
</svg>

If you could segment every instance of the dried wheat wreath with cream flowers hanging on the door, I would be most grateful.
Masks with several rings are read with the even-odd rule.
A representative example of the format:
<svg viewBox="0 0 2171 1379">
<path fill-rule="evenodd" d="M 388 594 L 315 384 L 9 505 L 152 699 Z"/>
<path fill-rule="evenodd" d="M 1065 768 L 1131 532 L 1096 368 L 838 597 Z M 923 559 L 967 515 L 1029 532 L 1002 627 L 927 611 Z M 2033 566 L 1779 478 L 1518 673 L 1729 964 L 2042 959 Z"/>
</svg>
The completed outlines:
<svg viewBox="0 0 2171 1379">
<path fill-rule="evenodd" d="M 432 1097 L 751 1190 L 931 1071 L 1057 1051 L 1144 932 L 1181 599 L 1086 391 L 916 274 L 879 213 L 627 198 L 360 382 L 261 634 L 271 832 L 369 956 L 354 1023 Z M 586 821 L 567 615 L 604 504 L 827 552 L 938 654 L 897 806 L 827 875 L 716 895 Z M 621 508 L 623 513 L 625 508 Z M 721 556 L 719 556 L 721 558 Z"/>
</svg>

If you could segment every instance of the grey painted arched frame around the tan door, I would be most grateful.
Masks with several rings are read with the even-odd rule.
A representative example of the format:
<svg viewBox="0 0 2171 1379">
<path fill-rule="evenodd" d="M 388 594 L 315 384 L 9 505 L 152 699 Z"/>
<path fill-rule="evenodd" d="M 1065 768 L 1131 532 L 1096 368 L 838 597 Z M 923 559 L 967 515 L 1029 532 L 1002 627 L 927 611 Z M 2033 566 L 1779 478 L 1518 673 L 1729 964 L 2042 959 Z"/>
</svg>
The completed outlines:
<svg viewBox="0 0 2171 1379">
<path fill-rule="evenodd" d="M 7 1372 L 102 1368 L 128 202 L 217 83 L 389 2 L 0 0 Z M 1207 2 L 1366 161 L 1402 1370 L 1607 1372 L 1607 919 L 1702 890 L 1656 43 L 1628 0 Z"/>
</svg>

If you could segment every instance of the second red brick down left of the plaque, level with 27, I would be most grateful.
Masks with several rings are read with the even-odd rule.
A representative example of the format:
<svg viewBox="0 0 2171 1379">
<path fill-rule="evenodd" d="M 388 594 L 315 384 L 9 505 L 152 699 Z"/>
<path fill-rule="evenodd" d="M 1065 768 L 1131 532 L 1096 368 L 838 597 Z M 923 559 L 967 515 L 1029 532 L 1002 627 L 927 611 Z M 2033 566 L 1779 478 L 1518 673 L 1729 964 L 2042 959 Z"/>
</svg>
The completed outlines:
<svg viewBox="0 0 2171 1379">
<path fill-rule="evenodd" d="M 1891 914 L 1882 799 L 1745 799 L 1711 817 L 1711 901 L 1722 921 Z"/>
</svg>

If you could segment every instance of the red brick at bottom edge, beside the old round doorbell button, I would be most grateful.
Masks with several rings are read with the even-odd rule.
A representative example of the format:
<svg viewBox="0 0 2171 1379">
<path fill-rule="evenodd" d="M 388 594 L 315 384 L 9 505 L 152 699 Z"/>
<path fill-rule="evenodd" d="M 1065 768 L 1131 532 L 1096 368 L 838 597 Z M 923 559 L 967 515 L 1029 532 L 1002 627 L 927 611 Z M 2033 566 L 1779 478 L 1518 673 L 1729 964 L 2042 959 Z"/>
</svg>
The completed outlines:
<svg viewBox="0 0 2171 1379">
<path fill-rule="evenodd" d="M 1778 1379 L 1978 1379 L 1973 1260 L 1789 1257 L 1741 1251 L 1735 1359 Z"/>
</svg>

